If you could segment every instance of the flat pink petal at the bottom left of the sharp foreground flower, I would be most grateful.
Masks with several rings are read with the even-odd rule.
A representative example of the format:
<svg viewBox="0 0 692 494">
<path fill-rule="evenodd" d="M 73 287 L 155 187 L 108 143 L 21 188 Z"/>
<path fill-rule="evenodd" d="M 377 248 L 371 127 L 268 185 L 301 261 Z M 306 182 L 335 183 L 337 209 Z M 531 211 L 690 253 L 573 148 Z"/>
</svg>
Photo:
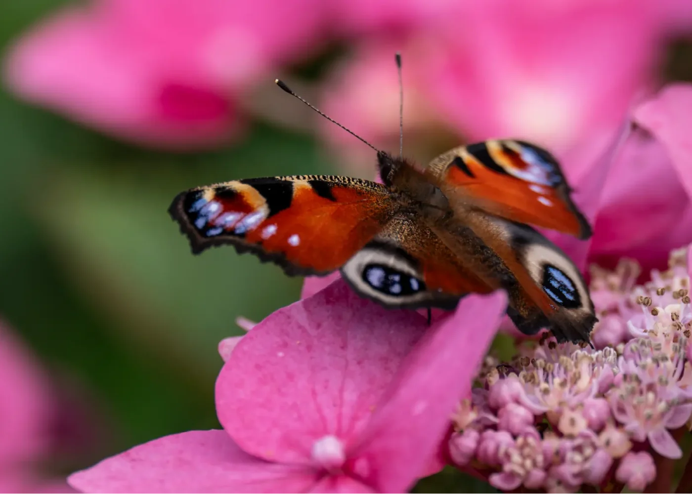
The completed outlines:
<svg viewBox="0 0 692 494">
<path fill-rule="evenodd" d="M 223 430 L 194 430 L 136 446 L 68 481 L 84 494 L 298 494 L 318 475 L 252 457 Z"/>
</svg>

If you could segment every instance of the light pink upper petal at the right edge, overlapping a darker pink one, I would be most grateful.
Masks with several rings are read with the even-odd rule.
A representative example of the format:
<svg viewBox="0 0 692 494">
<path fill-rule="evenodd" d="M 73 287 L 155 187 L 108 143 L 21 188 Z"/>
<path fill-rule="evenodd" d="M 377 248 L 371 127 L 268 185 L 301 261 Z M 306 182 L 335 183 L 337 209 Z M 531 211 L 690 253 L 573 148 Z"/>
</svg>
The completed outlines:
<svg viewBox="0 0 692 494">
<path fill-rule="evenodd" d="M 692 84 L 669 84 L 652 100 L 641 104 L 635 119 L 666 147 L 678 176 L 692 197 Z"/>
</svg>

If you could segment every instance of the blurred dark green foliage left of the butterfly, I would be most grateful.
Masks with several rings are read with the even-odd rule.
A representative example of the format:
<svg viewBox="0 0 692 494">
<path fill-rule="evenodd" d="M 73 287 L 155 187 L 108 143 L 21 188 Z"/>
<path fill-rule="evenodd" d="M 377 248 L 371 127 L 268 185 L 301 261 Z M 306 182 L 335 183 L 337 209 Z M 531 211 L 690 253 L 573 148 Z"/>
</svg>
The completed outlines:
<svg viewBox="0 0 692 494">
<path fill-rule="evenodd" d="M 3 48 L 60 3 L 0 3 Z M 257 123 L 214 152 L 154 152 L 4 90 L 0 136 L 0 314 L 109 417 L 112 440 L 83 461 L 218 427 L 217 343 L 238 315 L 296 300 L 300 279 L 232 248 L 192 256 L 167 207 L 205 183 L 331 172 L 316 142 Z"/>
</svg>

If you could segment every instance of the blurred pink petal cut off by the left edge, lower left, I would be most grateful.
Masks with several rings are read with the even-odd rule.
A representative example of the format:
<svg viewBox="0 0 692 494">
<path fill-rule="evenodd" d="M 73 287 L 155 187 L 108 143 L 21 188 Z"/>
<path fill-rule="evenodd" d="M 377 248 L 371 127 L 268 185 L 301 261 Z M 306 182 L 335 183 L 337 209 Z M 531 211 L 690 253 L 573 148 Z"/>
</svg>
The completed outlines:
<svg viewBox="0 0 692 494">
<path fill-rule="evenodd" d="M 48 446 L 51 396 L 38 363 L 0 321 L 0 464 L 32 459 Z"/>
</svg>

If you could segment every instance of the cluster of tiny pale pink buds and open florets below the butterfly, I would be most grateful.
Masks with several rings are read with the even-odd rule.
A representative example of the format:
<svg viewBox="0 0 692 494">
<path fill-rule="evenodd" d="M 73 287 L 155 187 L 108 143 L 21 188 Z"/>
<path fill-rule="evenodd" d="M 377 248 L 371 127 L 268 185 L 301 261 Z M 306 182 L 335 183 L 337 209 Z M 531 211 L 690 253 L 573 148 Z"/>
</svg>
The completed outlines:
<svg viewBox="0 0 692 494">
<path fill-rule="evenodd" d="M 583 484 L 642 491 L 657 464 L 680 459 L 692 416 L 686 251 L 641 286 L 634 262 L 592 271 L 600 349 L 544 334 L 509 363 L 487 362 L 455 414 L 453 464 L 502 491 L 574 493 Z"/>
</svg>

